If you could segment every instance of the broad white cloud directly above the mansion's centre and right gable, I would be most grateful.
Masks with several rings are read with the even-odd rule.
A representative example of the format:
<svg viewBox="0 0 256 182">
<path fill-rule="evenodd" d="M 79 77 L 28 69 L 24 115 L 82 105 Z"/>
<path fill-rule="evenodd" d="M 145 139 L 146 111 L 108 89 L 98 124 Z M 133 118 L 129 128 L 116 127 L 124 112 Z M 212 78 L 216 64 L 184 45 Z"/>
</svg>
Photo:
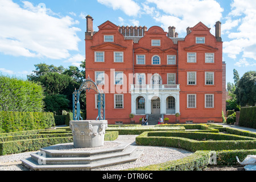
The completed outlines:
<svg viewBox="0 0 256 182">
<path fill-rule="evenodd" d="M 165 30 L 169 26 L 175 26 L 179 33 L 186 32 L 187 27 L 195 26 L 199 22 L 213 28 L 222 18 L 223 9 L 214 0 L 147 0 L 147 2 L 154 3 L 158 11 L 163 11 L 159 16 L 154 16 L 154 19 L 162 23 Z"/>
</svg>

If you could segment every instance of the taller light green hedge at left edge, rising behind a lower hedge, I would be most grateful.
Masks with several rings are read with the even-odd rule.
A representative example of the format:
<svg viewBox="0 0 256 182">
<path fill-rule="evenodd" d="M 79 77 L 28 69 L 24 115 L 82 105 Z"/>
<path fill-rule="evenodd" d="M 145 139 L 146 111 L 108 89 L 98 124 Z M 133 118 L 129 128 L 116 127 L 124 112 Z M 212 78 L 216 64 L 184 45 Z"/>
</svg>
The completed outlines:
<svg viewBox="0 0 256 182">
<path fill-rule="evenodd" d="M 43 92 L 32 81 L 0 75 L 0 111 L 42 112 Z"/>
</svg>

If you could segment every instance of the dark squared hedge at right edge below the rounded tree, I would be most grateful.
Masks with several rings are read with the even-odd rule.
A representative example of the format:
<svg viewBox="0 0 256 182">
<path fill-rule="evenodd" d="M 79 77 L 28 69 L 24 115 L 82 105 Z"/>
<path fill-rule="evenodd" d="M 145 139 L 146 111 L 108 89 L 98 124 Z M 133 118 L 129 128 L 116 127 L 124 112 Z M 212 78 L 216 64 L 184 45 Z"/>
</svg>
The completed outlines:
<svg viewBox="0 0 256 182">
<path fill-rule="evenodd" d="M 256 129 L 256 107 L 242 107 L 239 125 Z"/>
</svg>

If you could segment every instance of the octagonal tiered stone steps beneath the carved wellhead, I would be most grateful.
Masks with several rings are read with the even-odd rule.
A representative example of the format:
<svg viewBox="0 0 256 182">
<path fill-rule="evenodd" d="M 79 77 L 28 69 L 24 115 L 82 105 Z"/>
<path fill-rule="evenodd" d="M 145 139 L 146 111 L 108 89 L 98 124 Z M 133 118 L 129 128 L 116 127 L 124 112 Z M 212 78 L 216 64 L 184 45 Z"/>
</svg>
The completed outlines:
<svg viewBox="0 0 256 182">
<path fill-rule="evenodd" d="M 50 150 L 46 147 L 31 158 L 22 159 L 22 164 L 33 170 L 91 170 L 105 166 L 133 162 L 142 154 L 137 146 L 121 143 L 118 147 L 91 151 Z M 42 156 L 42 154 L 44 154 Z M 42 164 L 43 163 L 43 164 Z"/>
</svg>

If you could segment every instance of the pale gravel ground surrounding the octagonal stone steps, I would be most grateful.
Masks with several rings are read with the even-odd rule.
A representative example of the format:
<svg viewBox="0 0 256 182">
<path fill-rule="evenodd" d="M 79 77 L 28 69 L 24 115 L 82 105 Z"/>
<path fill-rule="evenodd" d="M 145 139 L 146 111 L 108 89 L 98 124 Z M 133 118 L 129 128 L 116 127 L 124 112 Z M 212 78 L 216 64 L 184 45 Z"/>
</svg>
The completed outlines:
<svg viewBox="0 0 256 182">
<path fill-rule="evenodd" d="M 132 145 L 136 145 L 135 138 L 137 136 L 138 135 L 119 135 L 115 141 L 130 142 Z M 119 164 L 117 166 L 97 168 L 94 170 L 119 171 L 122 169 L 142 167 L 148 166 L 150 164 L 158 164 L 170 160 L 177 160 L 193 154 L 192 152 L 183 150 L 181 148 L 172 147 L 138 146 L 138 149 L 142 149 L 143 154 L 135 162 Z M 30 158 L 30 154 L 36 152 L 38 151 L 0 156 L 0 171 L 30 171 L 30 169 L 24 167 L 21 164 L 20 160 Z"/>
</svg>

